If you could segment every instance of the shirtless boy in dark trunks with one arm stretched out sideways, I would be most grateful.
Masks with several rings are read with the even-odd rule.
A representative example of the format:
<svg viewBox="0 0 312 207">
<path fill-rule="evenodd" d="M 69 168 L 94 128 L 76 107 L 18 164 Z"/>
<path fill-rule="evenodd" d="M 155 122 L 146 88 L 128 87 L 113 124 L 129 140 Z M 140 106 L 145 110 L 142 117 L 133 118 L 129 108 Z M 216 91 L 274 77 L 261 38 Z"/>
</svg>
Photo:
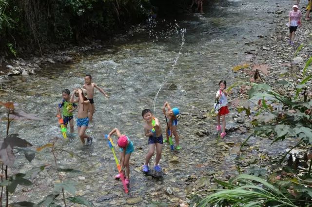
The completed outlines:
<svg viewBox="0 0 312 207">
<path fill-rule="evenodd" d="M 103 95 L 105 95 L 106 97 L 109 97 L 102 88 L 98 87 L 96 83 L 91 83 L 91 82 L 92 82 L 91 75 L 86 75 L 84 77 L 85 84 L 83 85 L 83 88 L 87 90 L 88 99 L 90 101 L 90 109 L 89 109 L 89 115 L 88 115 L 90 122 L 92 122 L 93 114 L 95 112 L 95 106 L 94 106 L 94 101 L 93 101 L 94 88 L 97 88 Z"/>
</svg>

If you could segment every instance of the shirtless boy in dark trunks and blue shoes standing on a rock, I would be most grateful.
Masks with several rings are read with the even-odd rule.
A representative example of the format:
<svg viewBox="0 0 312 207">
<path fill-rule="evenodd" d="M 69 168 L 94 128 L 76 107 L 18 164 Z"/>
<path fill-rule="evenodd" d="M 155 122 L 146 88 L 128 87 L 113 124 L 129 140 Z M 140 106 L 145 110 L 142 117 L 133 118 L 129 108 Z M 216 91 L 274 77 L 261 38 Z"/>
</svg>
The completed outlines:
<svg viewBox="0 0 312 207">
<path fill-rule="evenodd" d="M 145 157 L 145 163 L 143 165 L 143 172 L 149 171 L 149 162 L 152 156 L 154 155 L 154 151 L 156 148 L 156 159 L 154 164 L 154 169 L 157 172 L 161 172 L 161 167 L 159 166 L 159 161 L 161 158 L 161 150 L 162 150 L 162 132 L 159 120 L 155 118 L 155 126 L 152 125 L 153 121 L 153 113 L 150 109 L 144 109 L 142 111 L 142 117 L 146 124 L 144 124 L 144 134 L 148 137 L 148 146 L 149 150 Z M 154 132 L 153 132 L 154 130 Z"/>
</svg>

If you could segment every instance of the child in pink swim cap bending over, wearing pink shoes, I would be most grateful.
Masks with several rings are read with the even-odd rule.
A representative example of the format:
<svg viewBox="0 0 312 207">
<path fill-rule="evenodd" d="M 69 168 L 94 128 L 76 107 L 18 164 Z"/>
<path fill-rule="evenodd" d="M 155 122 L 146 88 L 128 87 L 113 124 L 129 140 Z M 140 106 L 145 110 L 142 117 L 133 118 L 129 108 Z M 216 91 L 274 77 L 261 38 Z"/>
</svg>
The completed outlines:
<svg viewBox="0 0 312 207">
<path fill-rule="evenodd" d="M 130 181 L 130 166 L 129 166 L 129 160 L 131 153 L 134 151 L 133 143 L 131 140 L 124 134 L 121 134 L 120 131 L 117 128 L 114 128 L 109 134 L 108 137 L 111 137 L 114 133 L 116 133 L 118 137 L 117 145 L 119 146 L 120 149 L 120 166 L 121 166 L 121 171 L 124 171 L 124 175 L 126 176 L 125 178 L 125 183 L 128 185 Z M 119 172 L 116 176 L 115 179 L 120 178 L 120 173 Z"/>
</svg>

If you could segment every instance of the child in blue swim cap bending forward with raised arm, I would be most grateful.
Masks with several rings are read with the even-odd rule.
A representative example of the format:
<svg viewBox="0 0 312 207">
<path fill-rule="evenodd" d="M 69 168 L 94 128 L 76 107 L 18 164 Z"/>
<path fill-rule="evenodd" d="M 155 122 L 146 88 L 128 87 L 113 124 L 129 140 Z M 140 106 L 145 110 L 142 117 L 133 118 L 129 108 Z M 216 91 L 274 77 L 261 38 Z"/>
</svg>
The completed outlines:
<svg viewBox="0 0 312 207">
<path fill-rule="evenodd" d="M 166 107 L 167 107 L 167 113 L 166 113 Z M 165 104 L 162 106 L 162 112 L 166 117 L 169 118 L 168 126 L 169 129 L 166 129 L 166 140 L 164 142 L 168 142 L 168 130 L 175 136 L 176 140 L 176 150 L 180 150 L 180 143 L 179 143 L 179 135 L 177 134 L 177 115 L 180 113 L 178 108 L 171 108 L 168 102 L 165 102 Z"/>
</svg>

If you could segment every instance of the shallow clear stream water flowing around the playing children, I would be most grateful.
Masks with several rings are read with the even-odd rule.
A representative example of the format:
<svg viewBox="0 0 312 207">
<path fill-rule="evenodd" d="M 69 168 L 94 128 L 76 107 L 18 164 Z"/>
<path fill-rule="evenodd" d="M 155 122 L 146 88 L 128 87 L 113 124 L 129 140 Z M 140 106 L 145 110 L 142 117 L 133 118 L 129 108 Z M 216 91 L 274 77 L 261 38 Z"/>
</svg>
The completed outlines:
<svg viewBox="0 0 312 207">
<path fill-rule="evenodd" d="M 178 132 L 181 135 L 182 151 L 172 153 L 164 147 L 161 166 L 166 175 L 163 179 L 151 180 L 140 172 L 147 153 L 141 111 L 144 108 L 152 109 L 155 100 L 155 116 L 159 117 L 164 129 L 161 107 L 165 101 L 178 106 L 180 111 L 190 111 L 192 107 L 208 109 L 214 100 L 217 83 L 221 79 L 227 80 L 229 85 L 233 83 L 232 67 L 244 62 L 247 58 L 244 52 L 252 49 L 253 46 L 247 46 L 244 42 L 256 41 L 259 34 L 273 33 L 273 24 L 270 24 L 272 15 L 266 11 L 276 10 L 275 2 L 279 1 L 222 1 L 212 5 L 203 15 L 192 14 L 179 21 L 167 20 L 166 23 L 158 20 L 157 26 L 144 27 L 145 30 L 136 34 L 131 41 L 111 48 L 114 52 L 103 49 L 85 53 L 80 63 L 49 65 L 26 81 L 13 77 L 13 82 L 8 85 L 12 90 L 1 91 L 1 99 L 16 103 L 16 107 L 25 112 L 38 114 L 44 121 L 14 122 L 10 133 L 19 133 L 21 138 L 35 146 L 44 145 L 56 136 L 61 137 L 55 118 L 61 91 L 64 88 L 72 91 L 81 87 L 84 75 L 91 74 L 93 82 L 108 92 L 110 98 L 96 91 L 94 124 L 87 130 L 87 134 L 95 137 L 92 147 L 83 147 L 78 138 L 69 142 L 59 140 L 58 145 L 78 156 L 71 158 L 66 153 L 59 153 L 58 164 L 83 172 L 79 175 L 67 173 L 64 178 L 75 180 L 78 195 L 84 195 L 90 201 L 95 202 L 107 193 L 120 196 L 107 202 L 94 203 L 97 206 L 121 205 L 134 197 L 143 198 L 137 204 L 139 206 L 146 206 L 152 201 L 173 204 L 174 197 L 186 200 L 184 180 L 189 174 L 201 173 L 203 170 L 194 168 L 193 164 L 205 162 L 205 158 L 217 153 L 218 149 L 215 145 L 201 145 L 201 140 L 194 143 L 192 140 L 195 139 L 196 129 L 181 123 Z M 176 25 L 179 27 L 176 28 Z M 186 30 L 185 41 L 182 41 L 181 29 Z M 176 84 L 177 89 L 169 90 L 171 84 Z M 213 130 L 214 122 L 208 122 L 211 122 L 210 129 Z M 5 123 L 1 122 L 0 130 L 5 131 L 5 127 Z M 111 150 L 103 138 L 114 127 L 128 135 L 135 145 L 135 152 L 131 156 L 128 195 L 122 193 L 121 183 L 113 179 L 117 169 Z M 210 136 L 206 142 L 212 139 Z M 46 154 L 38 155 L 31 164 L 25 161 L 23 154 L 17 155 L 14 172 L 25 171 L 32 166 L 53 166 L 54 163 L 52 156 Z M 173 156 L 178 158 L 177 164 L 170 162 L 176 159 Z M 151 166 L 153 161 L 154 158 Z M 204 169 L 214 167 L 213 163 L 207 163 Z M 28 192 L 21 192 L 19 187 L 11 199 L 16 201 L 20 194 L 24 194 L 30 197 L 30 201 L 38 202 L 51 192 L 51 186 L 57 180 L 53 170 L 46 170 L 36 180 L 37 186 L 28 188 Z M 175 188 L 175 196 L 164 193 L 162 188 L 167 186 Z"/>
</svg>

